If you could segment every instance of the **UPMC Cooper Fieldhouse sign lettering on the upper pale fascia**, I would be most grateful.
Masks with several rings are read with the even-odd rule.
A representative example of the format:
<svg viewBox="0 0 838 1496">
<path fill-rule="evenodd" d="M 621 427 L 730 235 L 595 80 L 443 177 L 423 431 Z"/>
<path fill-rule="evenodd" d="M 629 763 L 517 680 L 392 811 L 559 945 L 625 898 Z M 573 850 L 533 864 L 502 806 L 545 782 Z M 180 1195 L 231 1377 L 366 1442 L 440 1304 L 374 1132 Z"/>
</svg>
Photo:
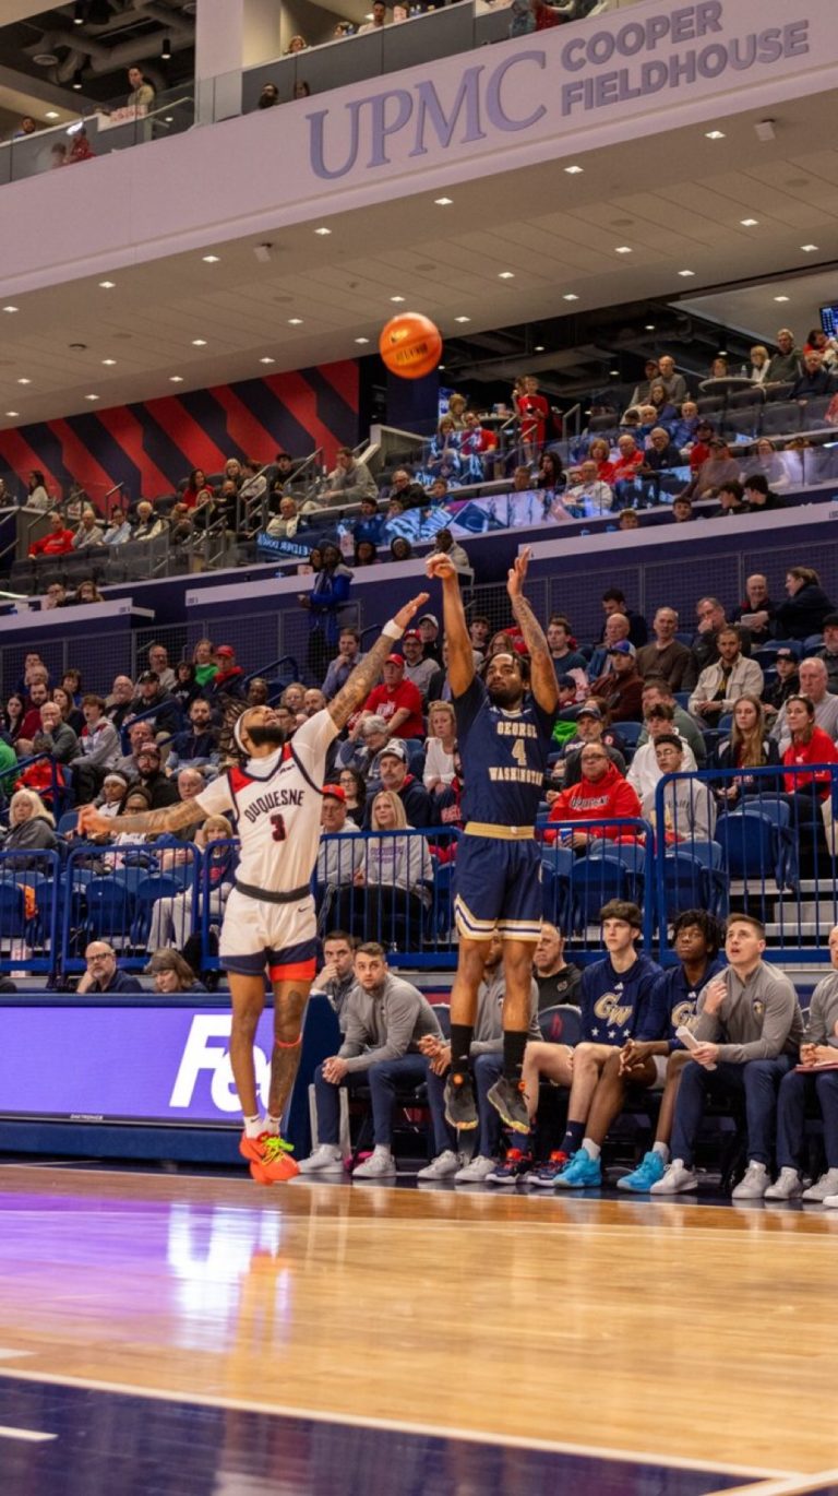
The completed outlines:
<svg viewBox="0 0 838 1496">
<path fill-rule="evenodd" d="M 813 10 L 835 51 L 838 0 L 829 4 L 829 28 L 828 12 Z M 671 108 L 675 99 L 739 91 L 825 61 L 813 19 L 789 0 L 642 4 L 532 42 L 484 48 L 471 66 L 447 58 L 433 78 L 411 69 L 399 87 L 356 85 L 354 97 L 309 111 L 311 171 L 348 184 L 394 165 L 409 169 L 448 153 L 456 160 L 468 147 L 482 154 L 481 142 L 493 148 L 523 135 L 575 132 L 603 112 L 638 112 L 651 100 Z"/>
</svg>

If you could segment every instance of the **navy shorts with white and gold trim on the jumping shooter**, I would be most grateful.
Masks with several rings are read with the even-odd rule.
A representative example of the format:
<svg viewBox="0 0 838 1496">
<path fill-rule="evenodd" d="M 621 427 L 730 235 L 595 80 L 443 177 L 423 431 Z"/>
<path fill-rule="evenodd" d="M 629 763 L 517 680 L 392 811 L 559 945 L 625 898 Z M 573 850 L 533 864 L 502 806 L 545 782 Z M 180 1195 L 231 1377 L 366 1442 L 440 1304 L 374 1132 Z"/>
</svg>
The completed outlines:
<svg viewBox="0 0 838 1496">
<path fill-rule="evenodd" d="M 465 939 L 541 938 L 541 847 L 532 839 L 463 836 L 457 847 L 454 917 Z"/>
</svg>

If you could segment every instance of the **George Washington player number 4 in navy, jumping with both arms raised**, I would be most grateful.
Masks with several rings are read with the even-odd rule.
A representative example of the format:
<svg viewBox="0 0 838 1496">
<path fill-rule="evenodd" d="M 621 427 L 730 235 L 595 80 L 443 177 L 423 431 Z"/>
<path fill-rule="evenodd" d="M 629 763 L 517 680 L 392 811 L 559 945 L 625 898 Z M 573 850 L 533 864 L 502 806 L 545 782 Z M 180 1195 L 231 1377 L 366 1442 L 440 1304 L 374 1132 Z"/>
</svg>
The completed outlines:
<svg viewBox="0 0 838 1496">
<path fill-rule="evenodd" d="M 541 938 L 541 848 L 535 818 L 541 800 L 559 685 L 550 648 L 524 597 L 529 549 L 509 571 L 512 615 L 529 649 L 496 654 L 484 679 L 475 673 L 460 582 L 444 554 L 427 573 L 442 582 L 448 679 L 463 764 L 465 832 L 457 850 L 454 914 L 460 950 L 451 989 L 451 1073 L 445 1109 L 451 1126 L 475 1128 L 469 1050 L 491 936 L 503 941 L 503 1071 L 488 1100 L 517 1132 L 529 1131 L 521 1079 L 529 1028 L 533 950 Z"/>
</svg>

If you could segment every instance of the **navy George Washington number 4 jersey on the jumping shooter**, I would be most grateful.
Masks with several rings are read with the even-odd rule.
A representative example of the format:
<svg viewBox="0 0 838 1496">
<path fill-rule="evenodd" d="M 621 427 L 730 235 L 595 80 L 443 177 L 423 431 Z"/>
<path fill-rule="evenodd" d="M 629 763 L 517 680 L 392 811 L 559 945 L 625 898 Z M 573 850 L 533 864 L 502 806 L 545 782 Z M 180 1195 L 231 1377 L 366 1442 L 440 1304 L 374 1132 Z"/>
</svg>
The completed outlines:
<svg viewBox="0 0 838 1496">
<path fill-rule="evenodd" d="M 491 705 L 477 676 L 454 697 L 454 714 L 466 820 L 535 826 L 547 755 L 556 747 L 556 714 L 542 711 L 532 696 L 520 712 L 505 712 Z"/>
</svg>

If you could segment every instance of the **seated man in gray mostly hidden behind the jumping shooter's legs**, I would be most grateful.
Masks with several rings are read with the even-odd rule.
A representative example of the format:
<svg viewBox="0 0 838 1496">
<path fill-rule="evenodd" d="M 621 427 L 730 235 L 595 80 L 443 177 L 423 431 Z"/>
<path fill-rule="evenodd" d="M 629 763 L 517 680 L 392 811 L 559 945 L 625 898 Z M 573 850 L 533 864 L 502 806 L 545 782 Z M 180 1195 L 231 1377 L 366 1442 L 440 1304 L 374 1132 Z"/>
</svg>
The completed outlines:
<svg viewBox="0 0 838 1496">
<path fill-rule="evenodd" d="M 493 1179 L 493 1182 L 514 1185 L 517 1177 L 524 1171 L 520 1149 L 511 1150 L 505 1165 L 497 1164 L 500 1118 L 488 1100 L 488 1092 L 503 1070 L 503 998 L 506 995 L 506 977 L 503 974 L 503 941 L 497 934 L 491 936 L 484 972 L 485 977 L 477 993 L 475 1031 L 469 1049 L 478 1116 L 477 1152 L 468 1161 L 457 1150 L 457 1132 L 445 1121 L 445 1080 L 448 1079 L 451 1065 L 451 1046 L 442 1037 L 429 1035 L 421 1040 L 420 1047 L 427 1062 L 427 1104 L 433 1123 L 436 1156 L 426 1168 L 420 1168 L 418 1179 L 453 1177 L 456 1185 L 477 1185 L 494 1176 L 496 1170 L 503 1168 L 503 1177 Z M 529 1038 L 541 1040 L 541 1029 L 538 1026 L 538 983 L 535 978 L 530 981 Z M 512 1153 L 517 1158 L 512 1158 Z M 521 1162 L 521 1167 L 518 1167 L 518 1162 Z"/>
</svg>

